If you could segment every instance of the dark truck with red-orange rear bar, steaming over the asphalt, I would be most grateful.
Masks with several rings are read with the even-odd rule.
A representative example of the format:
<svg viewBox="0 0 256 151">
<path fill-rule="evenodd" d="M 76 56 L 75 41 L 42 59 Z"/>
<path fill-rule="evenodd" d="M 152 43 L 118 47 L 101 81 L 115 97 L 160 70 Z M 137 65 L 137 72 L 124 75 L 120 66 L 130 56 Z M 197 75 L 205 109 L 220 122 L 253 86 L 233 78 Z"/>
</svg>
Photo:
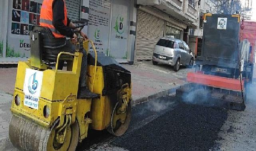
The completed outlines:
<svg viewBox="0 0 256 151">
<path fill-rule="evenodd" d="M 203 21 L 196 71 L 187 74 L 189 84 L 177 89 L 176 96 L 244 110 L 246 83 L 252 81 L 253 66 L 248 60 L 250 44 L 240 41 L 240 15 L 204 14 Z"/>
</svg>

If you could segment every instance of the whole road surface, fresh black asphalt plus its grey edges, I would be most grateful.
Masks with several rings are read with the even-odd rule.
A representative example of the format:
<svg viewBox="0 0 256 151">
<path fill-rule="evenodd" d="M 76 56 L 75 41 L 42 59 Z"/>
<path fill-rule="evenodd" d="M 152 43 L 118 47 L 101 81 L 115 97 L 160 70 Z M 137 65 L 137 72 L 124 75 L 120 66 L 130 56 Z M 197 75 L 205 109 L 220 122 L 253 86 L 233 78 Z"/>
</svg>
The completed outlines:
<svg viewBox="0 0 256 151">
<path fill-rule="evenodd" d="M 238 112 L 179 100 L 162 97 L 136 105 L 125 135 L 89 131 L 77 151 L 256 151 L 254 105 Z"/>
</svg>

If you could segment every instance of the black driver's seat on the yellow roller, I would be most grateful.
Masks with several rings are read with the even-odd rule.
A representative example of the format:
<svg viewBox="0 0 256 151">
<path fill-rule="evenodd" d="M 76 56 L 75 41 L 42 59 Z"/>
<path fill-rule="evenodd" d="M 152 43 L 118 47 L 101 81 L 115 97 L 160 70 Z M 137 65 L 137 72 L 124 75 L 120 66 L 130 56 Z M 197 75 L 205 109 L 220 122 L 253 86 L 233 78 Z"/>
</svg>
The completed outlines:
<svg viewBox="0 0 256 151">
<path fill-rule="evenodd" d="M 55 38 L 48 27 L 42 26 L 32 27 L 30 39 L 32 39 L 33 33 L 40 34 L 40 42 L 35 44 L 40 45 L 40 54 L 42 54 L 42 58 L 40 59 L 45 62 L 56 62 L 58 54 L 64 51 L 66 38 Z"/>
</svg>

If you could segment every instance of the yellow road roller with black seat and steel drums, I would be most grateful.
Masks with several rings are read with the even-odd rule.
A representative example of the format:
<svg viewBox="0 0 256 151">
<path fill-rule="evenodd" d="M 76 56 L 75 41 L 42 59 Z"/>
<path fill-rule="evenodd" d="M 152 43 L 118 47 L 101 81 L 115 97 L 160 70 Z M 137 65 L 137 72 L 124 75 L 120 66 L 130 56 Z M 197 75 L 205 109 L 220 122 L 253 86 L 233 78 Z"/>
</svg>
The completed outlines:
<svg viewBox="0 0 256 151">
<path fill-rule="evenodd" d="M 77 21 L 79 35 L 85 23 Z M 80 36 L 78 36 L 80 37 Z M 23 151 L 75 151 L 88 129 L 123 135 L 131 120 L 131 72 L 78 38 L 75 53 L 47 27 L 30 31 L 31 58 L 19 62 L 9 137 Z M 78 99 L 82 50 L 87 52 L 87 87 L 95 99 Z M 93 50 L 93 51 L 90 51 Z M 65 60 L 66 67 L 58 70 Z"/>
</svg>

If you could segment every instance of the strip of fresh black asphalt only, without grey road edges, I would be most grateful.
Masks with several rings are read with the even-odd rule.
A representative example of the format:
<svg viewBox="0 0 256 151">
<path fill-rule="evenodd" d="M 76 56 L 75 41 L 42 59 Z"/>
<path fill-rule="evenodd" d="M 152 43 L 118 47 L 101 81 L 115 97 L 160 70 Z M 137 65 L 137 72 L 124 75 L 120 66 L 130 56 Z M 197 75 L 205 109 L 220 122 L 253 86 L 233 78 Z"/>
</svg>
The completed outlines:
<svg viewBox="0 0 256 151">
<path fill-rule="evenodd" d="M 227 117 L 223 108 L 181 103 L 111 144 L 129 151 L 208 151 L 222 139 L 218 133 Z"/>
</svg>

